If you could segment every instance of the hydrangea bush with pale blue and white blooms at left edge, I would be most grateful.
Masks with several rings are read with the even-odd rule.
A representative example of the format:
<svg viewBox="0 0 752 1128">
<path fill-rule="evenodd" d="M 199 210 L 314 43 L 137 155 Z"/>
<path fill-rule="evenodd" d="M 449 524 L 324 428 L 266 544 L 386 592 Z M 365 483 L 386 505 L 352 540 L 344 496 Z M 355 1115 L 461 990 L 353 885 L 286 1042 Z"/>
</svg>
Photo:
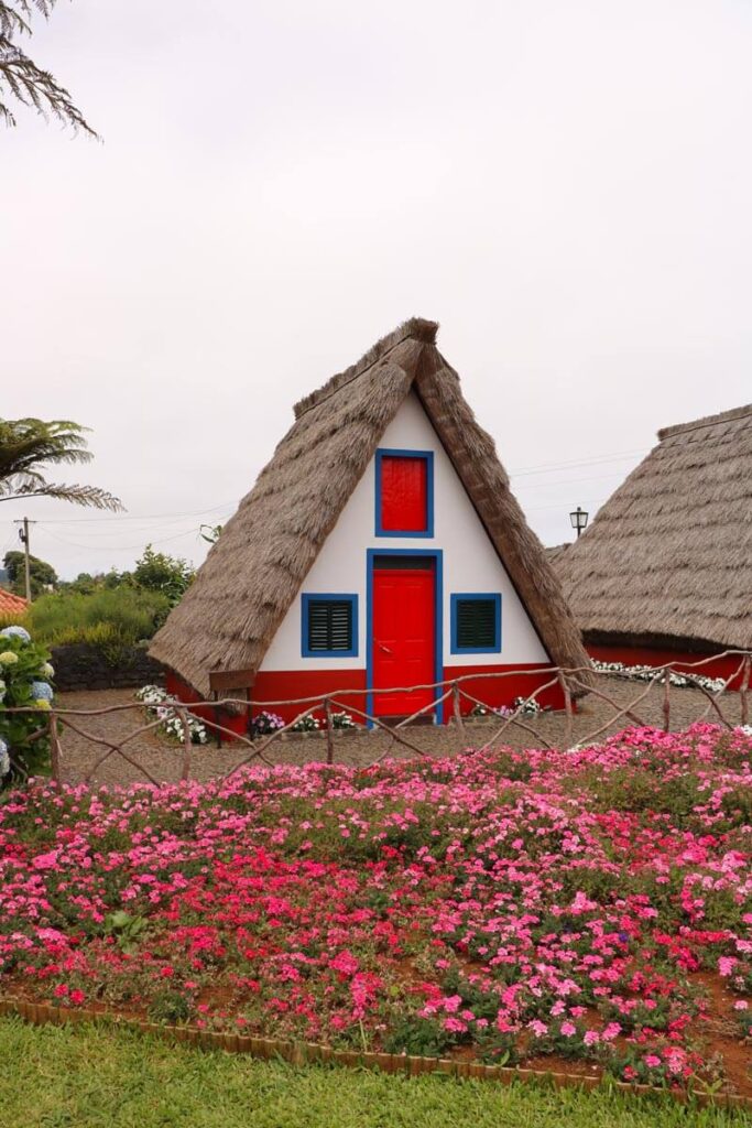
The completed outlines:
<svg viewBox="0 0 752 1128">
<path fill-rule="evenodd" d="M 0 631 L 0 787 L 47 765 L 50 739 L 44 712 L 53 699 L 53 675 L 50 653 L 32 641 L 25 627 Z M 34 712 L 11 713 L 11 708 Z"/>
</svg>

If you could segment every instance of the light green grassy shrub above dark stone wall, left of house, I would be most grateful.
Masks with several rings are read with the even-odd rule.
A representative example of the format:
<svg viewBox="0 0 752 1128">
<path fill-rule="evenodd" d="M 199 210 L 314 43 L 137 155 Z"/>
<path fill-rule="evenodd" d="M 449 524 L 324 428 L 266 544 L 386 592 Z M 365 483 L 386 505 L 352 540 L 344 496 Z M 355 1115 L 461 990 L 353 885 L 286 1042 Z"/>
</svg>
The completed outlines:
<svg viewBox="0 0 752 1128">
<path fill-rule="evenodd" d="M 100 588 L 90 594 L 61 592 L 32 603 L 26 623 L 48 646 L 88 642 L 105 650 L 151 638 L 169 613 L 169 600 L 157 591 Z"/>
</svg>

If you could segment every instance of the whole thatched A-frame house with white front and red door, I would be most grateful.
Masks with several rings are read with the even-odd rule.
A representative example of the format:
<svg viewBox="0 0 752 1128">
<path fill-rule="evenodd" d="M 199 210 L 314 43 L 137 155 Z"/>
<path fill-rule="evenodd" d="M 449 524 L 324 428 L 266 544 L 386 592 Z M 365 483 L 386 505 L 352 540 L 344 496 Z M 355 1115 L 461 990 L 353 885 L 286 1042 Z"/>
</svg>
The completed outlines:
<svg viewBox="0 0 752 1128">
<path fill-rule="evenodd" d="M 297 404 L 153 640 L 180 679 L 172 688 L 204 699 L 248 690 L 255 706 L 351 688 L 364 691 L 359 707 L 393 716 L 432 696 L 387 688 L 586 663 L 436 328 L 407 321 Z M 468 688 L 505 704 L 531 677 Z"/>
</svg>

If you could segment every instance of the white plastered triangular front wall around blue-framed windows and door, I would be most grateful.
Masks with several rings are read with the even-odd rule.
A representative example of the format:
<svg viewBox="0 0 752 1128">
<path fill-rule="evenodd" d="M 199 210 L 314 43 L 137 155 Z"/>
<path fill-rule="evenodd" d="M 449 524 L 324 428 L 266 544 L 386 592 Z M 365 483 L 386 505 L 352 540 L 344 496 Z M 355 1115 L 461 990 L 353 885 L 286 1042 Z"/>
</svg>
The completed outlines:
<svg viewBox="0 0 752 1128">
<path fill-rule="evenodd" d="M 439 437 L 412 393 L 389 424 L 382 448 L 432 450 L 434 455 L 434 536 L 377 537 L 375 459 L 353 491 L 339 520 L 308 573 L 262 663 L 272 670 L 365 669 L 366 549 L 417 548 L 443 552 L 444 666 L 519 666 L 546 663 L 546 651 L 520 598 L 465 492 Z M 450 596 L 452 592 L 501 592 L 501 654 L 452 654 Z M 301 594 L 356 594 L 359 645 L 355 658 L 301 656 Z"/>
</svg>

